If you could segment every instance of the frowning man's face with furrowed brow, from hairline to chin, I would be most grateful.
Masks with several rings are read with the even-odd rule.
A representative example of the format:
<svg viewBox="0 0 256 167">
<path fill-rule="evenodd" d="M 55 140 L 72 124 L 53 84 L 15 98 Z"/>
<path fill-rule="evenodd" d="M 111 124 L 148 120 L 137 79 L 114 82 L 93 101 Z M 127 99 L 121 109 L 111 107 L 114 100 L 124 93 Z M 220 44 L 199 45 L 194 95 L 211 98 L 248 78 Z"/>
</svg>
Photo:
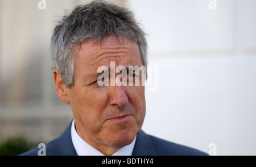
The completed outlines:
<svg viewBox="0 0 256 167">
<path fill-rule="evenodd" d="M 97 69 L 102 65 L 110 69 L 110 61 L 115 68 L 143 65 L 138 44 L 130 40 L 122 44 L 117 37 L 107 37 L 101 44 L 85 41 L 76 55 L 75 84 L 68 89 L 77 132 L 100 151 L 130 144 L 146 114 L 144 86 L 98 85 Z"/>
</svg>

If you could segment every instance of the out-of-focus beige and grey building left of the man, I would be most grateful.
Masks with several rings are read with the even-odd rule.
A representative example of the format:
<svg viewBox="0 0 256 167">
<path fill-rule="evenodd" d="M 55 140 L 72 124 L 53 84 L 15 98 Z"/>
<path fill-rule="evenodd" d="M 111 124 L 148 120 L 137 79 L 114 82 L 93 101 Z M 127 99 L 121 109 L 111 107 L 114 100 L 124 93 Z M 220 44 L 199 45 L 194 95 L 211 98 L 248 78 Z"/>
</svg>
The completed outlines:
<svg viewBox="0 0 256 167">
<path fill-rule="evenodd" d="M 55 23 L 86 2 L 0 1 L 0 141 L 23 135 L 47 142 L 71 122 L 71 108 L 55 91 L 49 44 Z"/>
</svg>

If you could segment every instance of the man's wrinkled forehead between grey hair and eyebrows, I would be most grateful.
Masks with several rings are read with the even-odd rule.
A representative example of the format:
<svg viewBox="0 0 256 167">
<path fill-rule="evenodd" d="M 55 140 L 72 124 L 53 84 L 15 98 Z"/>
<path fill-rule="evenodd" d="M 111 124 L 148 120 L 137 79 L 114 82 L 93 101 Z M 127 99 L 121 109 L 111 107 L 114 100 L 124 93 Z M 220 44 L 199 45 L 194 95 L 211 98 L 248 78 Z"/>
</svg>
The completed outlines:
<svg viewBox="0 0 256 167">
<path fill-rule="evenodd" d="M 118 37 L 106 37 L 101 43 L 84 41 L 76 55 L 76 67 L 96 68 L 109 66 L 110 61 L 118 65 L 143 65 L 139 45 L 129 39 L 120 42 Z"/>
</svg>

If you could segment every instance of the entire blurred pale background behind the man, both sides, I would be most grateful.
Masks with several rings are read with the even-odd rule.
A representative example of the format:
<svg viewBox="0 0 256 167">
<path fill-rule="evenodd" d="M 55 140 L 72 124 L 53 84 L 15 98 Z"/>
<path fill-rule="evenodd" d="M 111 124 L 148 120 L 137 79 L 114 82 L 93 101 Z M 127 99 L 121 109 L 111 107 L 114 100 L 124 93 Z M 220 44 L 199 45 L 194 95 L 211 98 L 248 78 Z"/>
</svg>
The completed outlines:
<svg viewBox="0 0 256 167">
<path fill-rule="evenodd" d="M 0 0 L 0 140 L 47 142 L 72 119 L 55 93 L 49 43 L 56 20 L 88 1 L 39 2 Z M 256 1 L 113 2 L 134 11 L 159 68 L 142 129 L 207 153 L 214 143 L 217 155 L 256 155 Z"/>
</svg>

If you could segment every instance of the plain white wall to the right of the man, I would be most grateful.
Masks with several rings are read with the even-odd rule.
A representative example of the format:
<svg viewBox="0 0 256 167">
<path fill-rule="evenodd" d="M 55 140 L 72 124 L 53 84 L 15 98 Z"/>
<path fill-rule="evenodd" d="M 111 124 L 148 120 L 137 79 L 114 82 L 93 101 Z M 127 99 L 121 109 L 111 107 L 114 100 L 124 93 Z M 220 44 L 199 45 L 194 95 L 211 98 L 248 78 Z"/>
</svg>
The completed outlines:
<svg viewBox="0 0 256 167">
<path fill-rule="evenodd" d="M 210 2 L 127 1 L 159 68 L 142 128 L 205 152 L 214 143 L 217 155 L 256 155 L 256 1 Z"/>
</svg>

